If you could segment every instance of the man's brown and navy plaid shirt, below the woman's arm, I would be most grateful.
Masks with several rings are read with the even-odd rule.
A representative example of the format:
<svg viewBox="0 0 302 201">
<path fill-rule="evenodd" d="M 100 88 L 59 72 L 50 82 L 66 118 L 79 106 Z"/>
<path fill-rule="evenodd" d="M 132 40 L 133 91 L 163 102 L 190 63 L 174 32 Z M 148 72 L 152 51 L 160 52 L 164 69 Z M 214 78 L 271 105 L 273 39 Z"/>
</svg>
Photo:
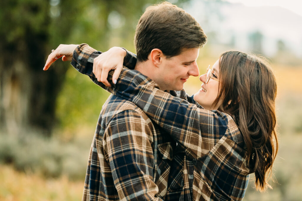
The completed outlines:
<svg viewBox="0 0 302 201">
<path fill-rule="evenodd" d="M 165 199 L 168 182 L 181 187 L 169 179 L 175 144 L 134 103 L 109 96 L 92 142 L 83 200 Z"/>
</svg>

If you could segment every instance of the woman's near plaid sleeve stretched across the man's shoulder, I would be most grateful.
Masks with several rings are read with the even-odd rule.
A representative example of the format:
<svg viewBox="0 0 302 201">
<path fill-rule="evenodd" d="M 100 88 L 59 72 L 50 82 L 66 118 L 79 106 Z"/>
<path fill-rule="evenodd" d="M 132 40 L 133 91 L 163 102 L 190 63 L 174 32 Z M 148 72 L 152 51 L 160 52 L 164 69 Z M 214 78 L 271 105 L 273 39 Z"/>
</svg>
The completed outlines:
<svg viewBox="0 0 302 201">
<path fill-rule="evenodd" d="M 191 158 L 207 154 L 226 133 L 228 118 L 224 113 L 198 108 L 159 90 L 153 80 L 138 71 L 124 68 L 113 88 L 115 95 L 135 103 L 168 132 Z"/>
</svg>

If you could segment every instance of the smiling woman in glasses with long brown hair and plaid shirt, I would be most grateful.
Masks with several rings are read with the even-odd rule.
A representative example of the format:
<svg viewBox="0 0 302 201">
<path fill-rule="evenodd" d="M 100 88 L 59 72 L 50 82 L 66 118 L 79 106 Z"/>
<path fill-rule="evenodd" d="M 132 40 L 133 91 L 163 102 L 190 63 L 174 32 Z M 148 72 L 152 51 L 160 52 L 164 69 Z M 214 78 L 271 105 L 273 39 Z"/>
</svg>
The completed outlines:
<svg viewBox="0 0 302 201">
<path fill-rule="evenodd" d="M 201 199 L 200 191 L 227 194 L 238 184 L 219 186 L 220 181 L 237 177 L 230 181 L 246 185 L 245 177 L 251 173 L 257 189 L 271 187 L 268 173 L 278 151 L 277 86 L 263 59 L 238 51 L 221 54 L 212 70 L 200 76 L 203 84 L 194 95 L 204 109 L 158 90 L 152 80 L 137 75 L 123 69 L 113 93 L 135 102 L 185 147 L 194 163 L 194 199 Z M 209 182 L 217 183 L 217 189 L 207 189 Z"/>
</svg>

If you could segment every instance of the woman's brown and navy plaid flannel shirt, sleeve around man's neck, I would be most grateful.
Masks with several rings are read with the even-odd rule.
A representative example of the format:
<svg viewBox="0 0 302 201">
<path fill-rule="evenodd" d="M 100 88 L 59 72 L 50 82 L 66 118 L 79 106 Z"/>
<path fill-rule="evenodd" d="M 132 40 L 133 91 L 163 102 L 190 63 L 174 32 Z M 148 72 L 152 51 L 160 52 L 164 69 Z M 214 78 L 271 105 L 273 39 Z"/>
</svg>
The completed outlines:
<svg viewBox="0 0 302 201">
<path fill-rule="evenodd" d="M 230 115 L 190 104 L 192 97 L 179 99 L 174 92 L 170 92 L 175 95 L 171 96 L 138 71 L 123 69 L 112 88 L 98 83 L 93 75 L 90 77 L 114 95 L 135 103 L 178 142 L 172 159 L 182 180 L 177 200 L 243 199 L 251 172 L 246 167 L 243 136 Z M 108 78 L 111 77 L 112 72 Z M 170 171 L 170 175 L 174 174 Z M 169 184 L 167 194 L 173 191 Z"/>
</svg>

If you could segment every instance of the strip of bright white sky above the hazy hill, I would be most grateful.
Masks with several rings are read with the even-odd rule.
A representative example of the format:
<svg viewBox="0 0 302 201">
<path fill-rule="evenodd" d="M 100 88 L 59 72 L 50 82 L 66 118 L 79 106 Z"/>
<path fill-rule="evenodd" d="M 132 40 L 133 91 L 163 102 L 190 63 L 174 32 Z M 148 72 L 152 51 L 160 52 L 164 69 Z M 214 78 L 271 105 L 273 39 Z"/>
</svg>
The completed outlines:
<svg viewBox="0 0 302 201">
<path fill-rule="evenodd" d="M 246 6 L 280 6 L 302 16 L 301 0 L 225 0 L 231 3 L 241 3 Z"/>
</svg>

